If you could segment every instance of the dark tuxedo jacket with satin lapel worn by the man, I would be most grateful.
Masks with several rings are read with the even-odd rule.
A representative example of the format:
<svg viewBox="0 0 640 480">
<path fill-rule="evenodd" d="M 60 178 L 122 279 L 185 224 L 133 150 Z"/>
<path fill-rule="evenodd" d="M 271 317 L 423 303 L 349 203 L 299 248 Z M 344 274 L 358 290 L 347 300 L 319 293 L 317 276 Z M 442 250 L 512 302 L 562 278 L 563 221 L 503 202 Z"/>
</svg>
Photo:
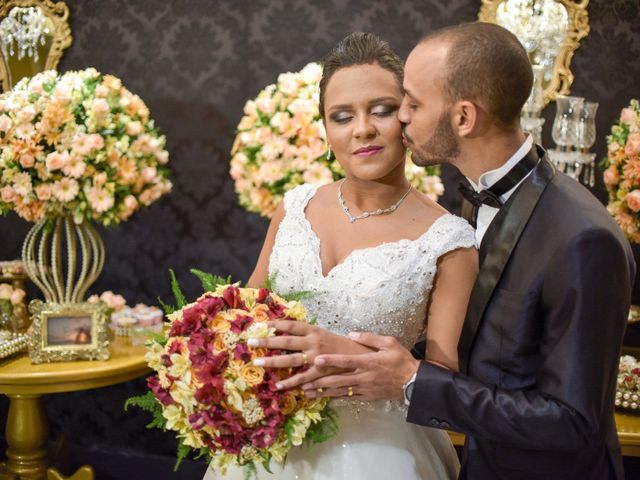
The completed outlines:
<svg viewBox="0 0 640 480">
<path fill-rule="evenodd" d="M 480 246 L 460 373 L 422 362 L 407 420 L 467 435 L 461 478 L 623 479 L 613 405 L 634 275 L 607 211 L 543 158 Z"/>
</svg>

